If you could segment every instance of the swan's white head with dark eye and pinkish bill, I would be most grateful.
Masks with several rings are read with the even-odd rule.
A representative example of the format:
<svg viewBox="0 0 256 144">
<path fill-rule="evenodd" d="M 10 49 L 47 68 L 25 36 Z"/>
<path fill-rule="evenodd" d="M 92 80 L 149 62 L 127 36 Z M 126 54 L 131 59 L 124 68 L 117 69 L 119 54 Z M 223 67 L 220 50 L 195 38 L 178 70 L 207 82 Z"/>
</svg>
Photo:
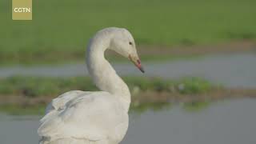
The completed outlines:
<svg viewBox="0 0 256 144">
<path fill-rule="evenodd" d="M 114 50 L 123 57 L 129 58 L 139 70 L 144 73 L 142 63 L 138 57 L 136 45 L 133 36 L 126 29 L 117 28 L 114 30 L 113 37 L 110 42 L 110 49 Z"/>
</svg>

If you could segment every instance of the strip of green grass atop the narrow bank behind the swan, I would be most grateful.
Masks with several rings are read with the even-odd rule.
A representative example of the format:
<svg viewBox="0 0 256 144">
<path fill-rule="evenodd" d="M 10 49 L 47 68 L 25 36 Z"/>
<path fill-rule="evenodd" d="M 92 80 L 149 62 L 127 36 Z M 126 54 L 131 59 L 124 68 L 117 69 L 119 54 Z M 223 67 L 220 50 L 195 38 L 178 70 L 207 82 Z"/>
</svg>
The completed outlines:
<svg viewBox="0 0 256 144">
<path fill-rule="evenodd" d="M 201 78 L 164 80 L 161 78 L 124 78 L 133 91 L 138 88 L 156 92 L 178 92 L 180 94 L 201 94 L 214 88 Z M 30 98 L 56 96 L 70 90 L 97 90 L 90 78 L 37 78 L 10 77 L 0 79 L 0 96 L 19 95 Z"/>
</svg>

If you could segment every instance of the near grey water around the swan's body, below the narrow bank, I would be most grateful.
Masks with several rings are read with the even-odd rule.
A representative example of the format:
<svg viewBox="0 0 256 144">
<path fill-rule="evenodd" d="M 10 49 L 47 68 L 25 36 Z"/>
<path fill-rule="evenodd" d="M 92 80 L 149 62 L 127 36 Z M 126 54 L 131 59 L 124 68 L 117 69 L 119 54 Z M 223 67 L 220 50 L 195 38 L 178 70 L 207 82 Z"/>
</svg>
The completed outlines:
<svg viewBox="0 0 256 144">
<path fill-rule="evenodd" d="M 38 119 L 1 115 L 1 144 L 38 143 Z M 256 100 L 250 98 L 214 102 L 197 112 L 174 106 L 170 110 L 131 114 L 122 144 L 253 144 L 255 122 Z"/>
</svg>

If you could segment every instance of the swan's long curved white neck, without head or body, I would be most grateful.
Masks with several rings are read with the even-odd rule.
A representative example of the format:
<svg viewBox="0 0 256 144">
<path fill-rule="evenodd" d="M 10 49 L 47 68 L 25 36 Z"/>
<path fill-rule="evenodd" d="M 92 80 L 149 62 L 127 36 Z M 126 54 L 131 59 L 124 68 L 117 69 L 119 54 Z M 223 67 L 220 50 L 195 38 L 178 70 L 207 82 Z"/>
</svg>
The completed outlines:
<svg viewBox="0 0 256 144">
<path fill-rule="evenodd" d="M 94 83 L 102 91 L 121 97 L 130 106 L 130 90 L 122 78 L 104 57 L 104 51 L 110 46 L 110 35 L 94 37 L 86 52 L 86 64 Z"/>
</svg>

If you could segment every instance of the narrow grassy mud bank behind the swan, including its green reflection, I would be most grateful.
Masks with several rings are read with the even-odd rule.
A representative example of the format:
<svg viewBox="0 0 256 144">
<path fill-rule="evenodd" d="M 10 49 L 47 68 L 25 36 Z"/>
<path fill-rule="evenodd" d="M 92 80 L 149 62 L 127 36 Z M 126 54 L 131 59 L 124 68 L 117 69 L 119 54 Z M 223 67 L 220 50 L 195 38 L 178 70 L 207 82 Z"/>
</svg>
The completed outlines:
<svg viewBox="0 0 256 144">
<path fill-rule="evenodd" d="M 124 78 L 132 94 L 131 111 L 161 110 L 182 102 L 197 110 L 223 98 L 256 96 L 256 90 L 228 90 L 201 78 L 163 80 Z M 43 114 L 52 98 L 69 90 L 97 90 L 90 78 L 3 78 L 0 81 L 0 111 L 7 114 Z"/>
</svg>

